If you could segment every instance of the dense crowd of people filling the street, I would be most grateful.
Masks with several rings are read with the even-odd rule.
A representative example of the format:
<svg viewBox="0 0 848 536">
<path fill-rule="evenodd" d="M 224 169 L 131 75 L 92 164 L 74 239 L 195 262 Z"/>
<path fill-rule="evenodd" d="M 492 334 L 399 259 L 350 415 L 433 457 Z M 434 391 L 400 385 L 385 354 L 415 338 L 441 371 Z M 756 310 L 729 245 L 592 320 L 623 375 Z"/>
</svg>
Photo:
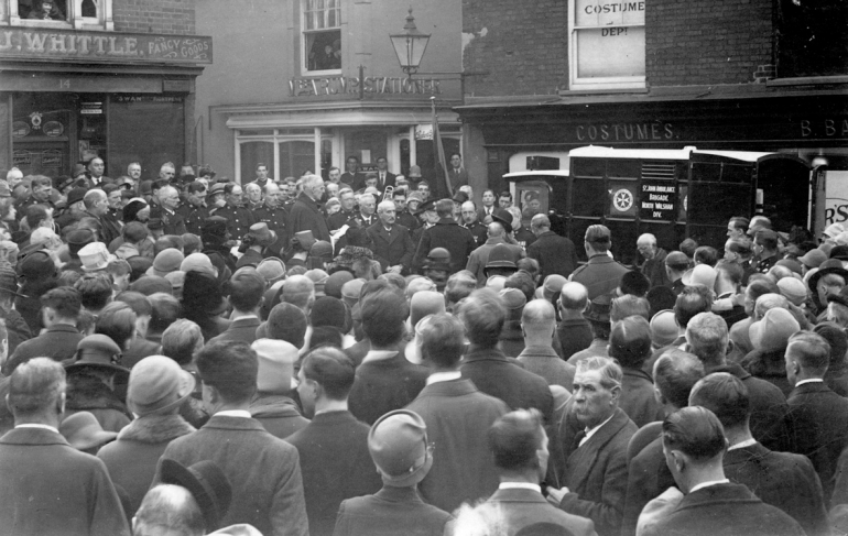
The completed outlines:
<svg viewBox="0 0 848 536">
<path fill-rule="evenodd" d="M 848 533 L 848 229 L 580 263 L 382 161 L 10 171 L 0 534 Z"/>
</svg>

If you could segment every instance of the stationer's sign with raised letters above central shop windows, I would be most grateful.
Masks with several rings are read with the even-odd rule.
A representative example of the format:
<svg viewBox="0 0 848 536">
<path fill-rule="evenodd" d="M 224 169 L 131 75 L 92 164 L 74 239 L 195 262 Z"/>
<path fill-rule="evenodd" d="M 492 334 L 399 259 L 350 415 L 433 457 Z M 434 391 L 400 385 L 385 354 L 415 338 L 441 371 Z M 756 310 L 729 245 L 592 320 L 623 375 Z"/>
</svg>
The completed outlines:
<svg viewBox="0 0 848 536">
<path fill-rule="evenodd" d="M 356 76 L 336 76 L 331 78 L 292 78 L 289 92 L 292 97 L 316 97 L 323 95 L 396 94 L 396 95 L 441 95 L 439 80 L 390 78 L 385 76 L 366 76 L 360 83 Z"/>
</svg>

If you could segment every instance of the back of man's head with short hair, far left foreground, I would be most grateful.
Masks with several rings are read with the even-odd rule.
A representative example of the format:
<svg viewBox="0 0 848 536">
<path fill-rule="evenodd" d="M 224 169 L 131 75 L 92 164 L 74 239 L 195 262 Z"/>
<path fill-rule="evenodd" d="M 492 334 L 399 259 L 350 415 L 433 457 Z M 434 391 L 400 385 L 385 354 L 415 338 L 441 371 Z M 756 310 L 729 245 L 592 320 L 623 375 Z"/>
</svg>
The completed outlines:
<svg viewBox="0 0 848 536">
<path fill-rule="evenodd" d="M 19 365 L 9 379 L 9 409 L 14 418 L 62 412 L 65 369 L 50 358 L 34 358 Z"/>
</svg>

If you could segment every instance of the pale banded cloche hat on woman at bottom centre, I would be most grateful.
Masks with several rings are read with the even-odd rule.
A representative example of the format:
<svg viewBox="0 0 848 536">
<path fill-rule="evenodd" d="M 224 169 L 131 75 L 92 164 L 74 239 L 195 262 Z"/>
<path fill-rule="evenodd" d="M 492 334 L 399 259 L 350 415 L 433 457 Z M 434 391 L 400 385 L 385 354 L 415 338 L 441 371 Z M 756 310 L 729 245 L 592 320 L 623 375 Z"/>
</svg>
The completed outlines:
<svg viewBox="0 0 848 536">
<path fill-rule="evenodd" d="M 417 484 L 433 467 L 427 425 L 409 409 L 395 409 L 377 419 L 368 433 L 368 451 L 383 482 L 395 488 Z"/>
</svg>

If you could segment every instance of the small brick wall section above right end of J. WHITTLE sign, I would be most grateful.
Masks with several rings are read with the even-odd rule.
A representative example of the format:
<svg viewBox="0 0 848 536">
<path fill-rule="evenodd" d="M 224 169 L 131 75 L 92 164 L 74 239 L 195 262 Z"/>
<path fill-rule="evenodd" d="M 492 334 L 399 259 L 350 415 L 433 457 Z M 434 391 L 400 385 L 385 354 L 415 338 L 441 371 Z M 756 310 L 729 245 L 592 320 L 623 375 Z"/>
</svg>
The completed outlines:
<svg viewBox="0 0 848 536">
<path fill-rule="evenodd" d="M 115 30 L 193 35 L 195 0 L 112 0 Z"/>
</svg>

